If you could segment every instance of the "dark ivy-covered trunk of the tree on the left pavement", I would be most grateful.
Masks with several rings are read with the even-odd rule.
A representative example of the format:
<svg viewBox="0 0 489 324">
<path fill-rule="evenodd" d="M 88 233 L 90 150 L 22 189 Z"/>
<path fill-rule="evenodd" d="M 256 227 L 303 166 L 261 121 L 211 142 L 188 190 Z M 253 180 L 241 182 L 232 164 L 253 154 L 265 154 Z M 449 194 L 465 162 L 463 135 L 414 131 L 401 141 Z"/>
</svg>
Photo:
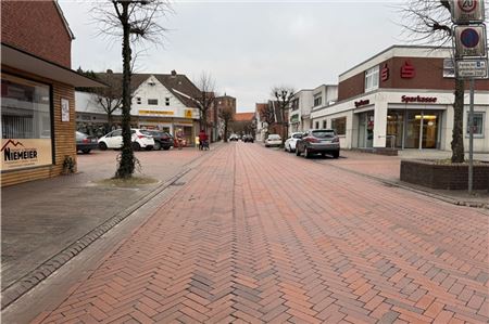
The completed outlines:
<svg viewBox="0 0 489 324">
<path fill-rule="evenodd" d="M 123 106 L 122 106 L 122 135 L 123 147 L 121 152 L 121 159 L 118 168 L 115 172 L 116 178 L 130 178 L 135 169 L 135 157 L 133 152 L 131 133 L 130 133 L 130 25 L 128 23 L 128 5 L 129 2 L 121 1 L 123 7 Z"/>
</svg>

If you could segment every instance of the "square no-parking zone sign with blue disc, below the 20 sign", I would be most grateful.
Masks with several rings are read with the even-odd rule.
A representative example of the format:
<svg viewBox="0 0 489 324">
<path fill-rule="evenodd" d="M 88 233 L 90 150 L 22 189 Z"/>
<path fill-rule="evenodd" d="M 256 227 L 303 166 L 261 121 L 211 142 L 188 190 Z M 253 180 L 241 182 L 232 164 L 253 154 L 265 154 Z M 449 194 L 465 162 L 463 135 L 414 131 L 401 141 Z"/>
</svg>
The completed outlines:
<svg viewBox="0 0 489 324">
<path fill-rule="evenodd" d="M 486 26 L 455 26 L 455 56 L 486 56 Z"/>
</svg>

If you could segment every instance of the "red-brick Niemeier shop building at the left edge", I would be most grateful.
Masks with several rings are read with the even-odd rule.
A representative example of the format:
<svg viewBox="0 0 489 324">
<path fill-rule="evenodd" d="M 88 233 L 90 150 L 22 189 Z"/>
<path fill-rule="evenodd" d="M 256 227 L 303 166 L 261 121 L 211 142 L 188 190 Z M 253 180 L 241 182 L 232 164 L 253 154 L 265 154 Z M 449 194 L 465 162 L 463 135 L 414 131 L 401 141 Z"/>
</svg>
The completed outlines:
<svg viewBox="0 0 489 324">
<path fill-rule="evenodd" d="M 28 17 L 28 18 L 26 18 Z M 55 1 L 1 2 L 1 185 L 55 177 L 76 161 L 74 39 Z"/>
</svg>

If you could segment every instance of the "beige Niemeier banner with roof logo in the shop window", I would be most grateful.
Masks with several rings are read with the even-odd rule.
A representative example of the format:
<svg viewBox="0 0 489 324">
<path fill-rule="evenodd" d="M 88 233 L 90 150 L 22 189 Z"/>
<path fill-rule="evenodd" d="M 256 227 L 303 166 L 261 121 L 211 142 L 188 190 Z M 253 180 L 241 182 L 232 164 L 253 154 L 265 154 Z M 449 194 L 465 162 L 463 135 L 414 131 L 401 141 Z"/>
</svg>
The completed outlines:
<svg viewBox="0 0 489 324">
<path fill-rule="evenodd" d="M 1 171 L 52 165 L 51 139 L 2 139 Z"/>
</svg>

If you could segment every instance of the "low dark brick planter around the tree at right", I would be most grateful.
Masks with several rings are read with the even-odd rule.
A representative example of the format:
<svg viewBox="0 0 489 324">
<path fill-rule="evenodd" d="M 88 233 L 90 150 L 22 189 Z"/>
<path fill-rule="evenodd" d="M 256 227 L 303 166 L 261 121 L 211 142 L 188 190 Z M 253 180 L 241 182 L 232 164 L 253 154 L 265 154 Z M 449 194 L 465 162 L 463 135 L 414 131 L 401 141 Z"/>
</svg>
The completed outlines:
<svg viewBox="0 0 489 324">
<path fill-rule="evenodd" d="M 489 164 L 474 164 L 474 190 L 489 190 Z M 437 164 L 434 160 L 401 160 L 401 181 L 431 189 L 467 190 L 468 164 Z"/>
</svg>

